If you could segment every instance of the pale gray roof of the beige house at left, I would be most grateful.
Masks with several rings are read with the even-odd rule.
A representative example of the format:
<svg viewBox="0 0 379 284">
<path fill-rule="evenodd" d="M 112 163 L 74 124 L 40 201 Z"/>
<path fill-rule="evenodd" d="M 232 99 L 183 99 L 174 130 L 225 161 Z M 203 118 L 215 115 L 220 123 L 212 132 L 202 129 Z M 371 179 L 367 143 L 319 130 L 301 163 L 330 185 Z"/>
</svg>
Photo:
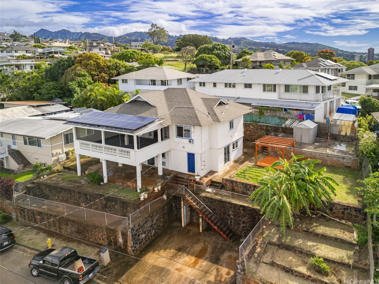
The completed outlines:
<svg viewBox="0 0 379 284">
<path fill-rule="evenodd" d="M 69 130 L 65 121 L 47 120 L 40 117 L 14 117 L 1 123 L 3 133 L 47 139 Z"/>
</svg>

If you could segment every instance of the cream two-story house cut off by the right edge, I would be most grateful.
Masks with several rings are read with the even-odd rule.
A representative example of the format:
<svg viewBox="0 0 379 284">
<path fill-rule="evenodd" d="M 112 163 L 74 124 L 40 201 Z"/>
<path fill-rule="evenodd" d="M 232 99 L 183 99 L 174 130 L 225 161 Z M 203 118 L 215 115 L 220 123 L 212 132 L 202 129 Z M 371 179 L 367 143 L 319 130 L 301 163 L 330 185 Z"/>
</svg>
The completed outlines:
<svg viewBox="0 0 379 284">
<path fill-rule="evenodd" d="M 350 80 L 346 83 L 345 92 L 357 95 L 379 94 L 379 63 L 354 68 L 342 75 Z"/>
</svg>

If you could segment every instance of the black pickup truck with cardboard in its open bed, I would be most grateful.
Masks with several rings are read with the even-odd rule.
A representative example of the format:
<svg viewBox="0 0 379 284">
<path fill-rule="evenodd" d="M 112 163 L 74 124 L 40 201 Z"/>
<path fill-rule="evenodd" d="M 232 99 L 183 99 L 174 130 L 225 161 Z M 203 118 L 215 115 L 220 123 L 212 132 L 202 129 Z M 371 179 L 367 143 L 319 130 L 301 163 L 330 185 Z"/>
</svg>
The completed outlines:
<svg viewBox="0 0 379 284">
<path fill-rule="evenodd" d="M 79 259 L 83 261 L 84 268 L 77 271 L 74 268 L 74 262 Z M 63 279 L 64 284 L 82 284 L 95 276 L 100 269 L 100 261 L 78 255 L 73 248 L 60 247 L 37 253 L 30 260 L 29 267 L 34 277 L 43 275 L 56 280 Z"/>
</svg>

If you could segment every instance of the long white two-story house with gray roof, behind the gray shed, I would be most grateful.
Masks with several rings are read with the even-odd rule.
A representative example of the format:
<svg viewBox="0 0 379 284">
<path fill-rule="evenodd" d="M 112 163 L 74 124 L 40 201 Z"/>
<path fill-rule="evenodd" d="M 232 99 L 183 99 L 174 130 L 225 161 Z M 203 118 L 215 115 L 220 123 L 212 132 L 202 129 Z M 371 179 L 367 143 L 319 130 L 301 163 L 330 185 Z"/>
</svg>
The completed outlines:
<svg viewBox="0 0 379 284">
<path fill-rule="evenodd" d="M 348 80 L 307 69 L 234 69 L 205 75 L 191 82 L 196 91 L 254 106 L 313 114 L 313 120 L 332 117 L 341 106 L 341 90 Z"/>
</svg>

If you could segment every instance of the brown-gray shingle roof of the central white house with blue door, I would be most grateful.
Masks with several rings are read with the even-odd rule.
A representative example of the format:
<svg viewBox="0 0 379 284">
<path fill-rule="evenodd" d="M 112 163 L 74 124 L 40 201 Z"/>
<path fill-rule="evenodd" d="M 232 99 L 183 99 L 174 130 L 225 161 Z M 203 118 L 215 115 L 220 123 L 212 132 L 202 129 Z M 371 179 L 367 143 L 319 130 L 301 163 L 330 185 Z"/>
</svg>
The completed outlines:
<svg viewBox="0 0 379 284">
<path fill-rule="evenodd" d="M 160 117 L 165 119 L 165 125 L 176 123 L 205 126 L 214 122 L 226 122 L 250 111 L 249 106 L 227 100 L 227 105 L 222 105 L 218 104 L 219 101 L 218 97 L 191 89 L 168 88 L 139 94 L 105 112 Z"/>
</svg>

